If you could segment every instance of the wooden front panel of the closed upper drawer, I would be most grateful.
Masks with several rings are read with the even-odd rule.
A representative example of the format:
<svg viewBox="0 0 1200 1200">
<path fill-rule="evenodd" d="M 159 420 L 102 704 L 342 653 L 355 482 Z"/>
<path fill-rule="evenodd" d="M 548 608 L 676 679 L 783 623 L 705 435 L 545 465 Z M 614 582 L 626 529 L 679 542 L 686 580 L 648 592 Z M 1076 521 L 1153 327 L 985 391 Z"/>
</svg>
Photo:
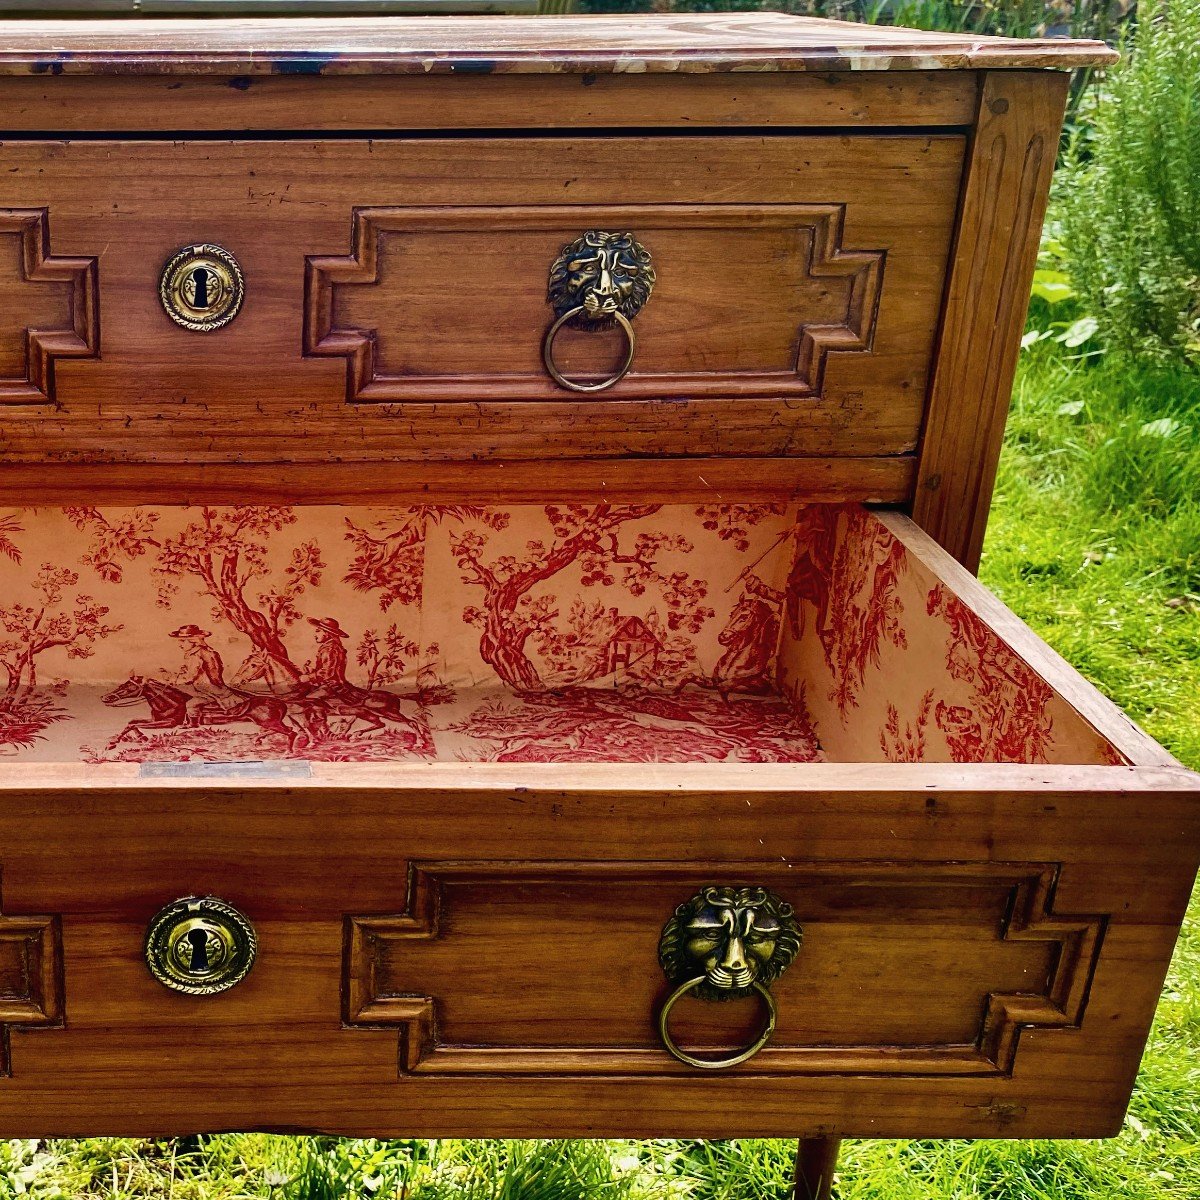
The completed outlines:
<svg viewBox="0 0 1200 1200">
<path fill-rule="evenodd" d="M 5 455 L 902 454 L 962 150 L 959 136 L 7 143 Z M 551 264 L 589 229 L 634 233 L 656 282 L 630 373 L 580 396 L 541 344 Z M 241 312 L 205 334 L 158 296 L 167 259 L 200 242 L 245 275 Z M 41 355 L 24 349 L 35 320 Z M 571 376 L 620 350 L 570 328 L 557 343 Z"/>
</svg>

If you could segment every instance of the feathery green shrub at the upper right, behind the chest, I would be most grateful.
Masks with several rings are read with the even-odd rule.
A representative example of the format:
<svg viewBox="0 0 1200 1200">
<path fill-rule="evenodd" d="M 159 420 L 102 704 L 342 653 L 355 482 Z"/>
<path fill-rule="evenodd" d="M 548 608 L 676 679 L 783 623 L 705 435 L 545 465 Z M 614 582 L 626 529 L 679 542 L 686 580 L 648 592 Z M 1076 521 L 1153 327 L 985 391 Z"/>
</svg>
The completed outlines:
<svg viewBox="0 0 1200 1200">
<path fill-rule="evenodd" d="M 1200 0 L 1142 5 L 1062 190 L 1068 270 L 1120 359 L 1200 367 Z"/>
</svg>

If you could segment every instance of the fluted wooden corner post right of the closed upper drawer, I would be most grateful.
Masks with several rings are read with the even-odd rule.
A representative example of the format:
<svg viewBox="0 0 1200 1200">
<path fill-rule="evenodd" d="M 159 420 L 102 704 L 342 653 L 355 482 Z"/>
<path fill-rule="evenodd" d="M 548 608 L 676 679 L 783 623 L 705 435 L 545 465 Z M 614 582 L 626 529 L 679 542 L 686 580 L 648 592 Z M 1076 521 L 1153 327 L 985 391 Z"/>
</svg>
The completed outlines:
<svg viewBox="0 0 1200 1200">
<path fill-rule="evenodd" d="M 1067 79 L 988 74 L 920 449 L 913 518 L 979 565 Z"/>
</svg>

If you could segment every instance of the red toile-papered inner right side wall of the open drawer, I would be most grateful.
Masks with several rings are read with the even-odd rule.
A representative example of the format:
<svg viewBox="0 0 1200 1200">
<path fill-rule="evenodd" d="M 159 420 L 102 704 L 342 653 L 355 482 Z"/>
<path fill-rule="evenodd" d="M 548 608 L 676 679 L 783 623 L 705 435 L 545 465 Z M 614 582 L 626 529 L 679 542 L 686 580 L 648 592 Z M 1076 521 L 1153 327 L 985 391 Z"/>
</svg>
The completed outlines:
<svg viewBox="0 0 1200 1200">
<path fill-rule="evenodd" d="M 828 758 L 1123 761 L 869 511 L 811 505 L 794 541 L 779 683 Z"/>
</svg>

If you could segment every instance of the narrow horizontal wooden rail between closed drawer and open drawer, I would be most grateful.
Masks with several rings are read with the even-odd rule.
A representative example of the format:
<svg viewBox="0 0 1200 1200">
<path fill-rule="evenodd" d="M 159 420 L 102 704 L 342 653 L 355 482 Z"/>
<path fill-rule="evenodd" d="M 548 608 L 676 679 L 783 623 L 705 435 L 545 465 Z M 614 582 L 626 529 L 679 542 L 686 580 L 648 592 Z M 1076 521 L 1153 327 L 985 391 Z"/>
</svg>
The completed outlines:
<svg viewBox="0 0 1200 1200">
<path fill-rule="evenodd" d="M 680 504 L 862 500 L 904 504 L 916 461 L 563 458 L 508 462 L 6 463 L 0 504 L 522 504 L 606 498 Z"/>
</svg>

